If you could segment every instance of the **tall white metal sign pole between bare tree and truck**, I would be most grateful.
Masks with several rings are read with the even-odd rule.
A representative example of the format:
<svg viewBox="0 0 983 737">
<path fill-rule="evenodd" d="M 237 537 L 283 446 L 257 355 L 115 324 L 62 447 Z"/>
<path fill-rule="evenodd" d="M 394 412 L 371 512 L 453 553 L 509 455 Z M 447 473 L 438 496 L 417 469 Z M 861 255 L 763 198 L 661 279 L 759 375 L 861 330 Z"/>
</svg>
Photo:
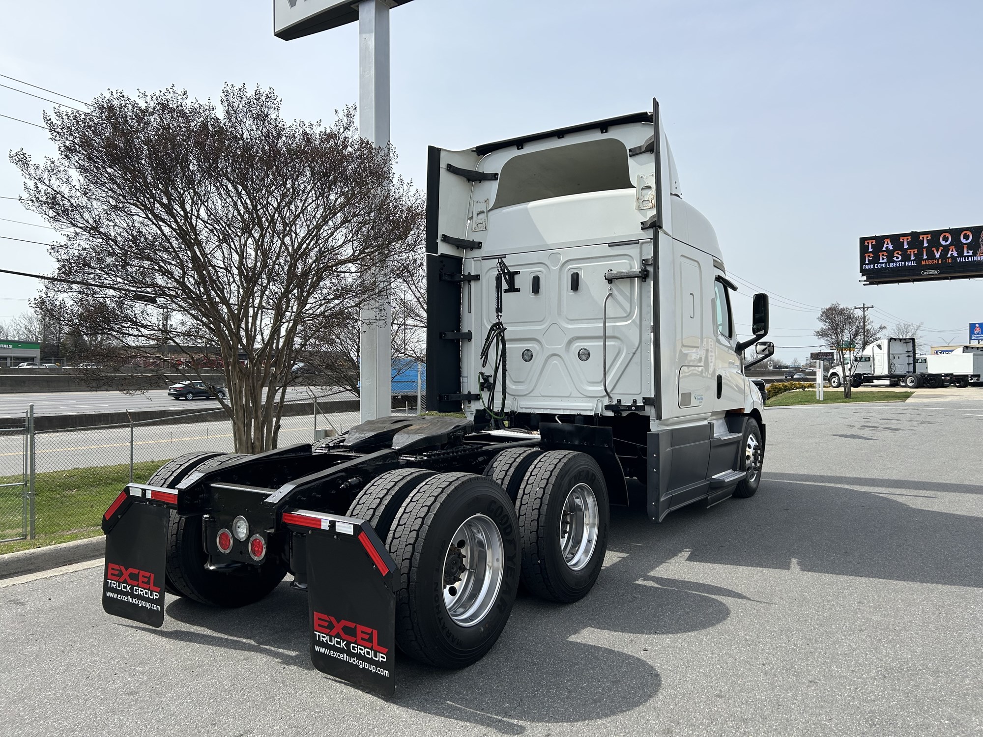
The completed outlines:
<svg viewBox="0 0 983 737">
<path fill-rule="evenodd" d="M 377 146 L 389 143 L 389 6 L 359 2 L 359 133 Z M 385 282 L 373 269 L 364 278 Z M 392 315 L 388 290 L 361 311 L 359 340 L 362 422 L 392 411 Z"/>
</svg>

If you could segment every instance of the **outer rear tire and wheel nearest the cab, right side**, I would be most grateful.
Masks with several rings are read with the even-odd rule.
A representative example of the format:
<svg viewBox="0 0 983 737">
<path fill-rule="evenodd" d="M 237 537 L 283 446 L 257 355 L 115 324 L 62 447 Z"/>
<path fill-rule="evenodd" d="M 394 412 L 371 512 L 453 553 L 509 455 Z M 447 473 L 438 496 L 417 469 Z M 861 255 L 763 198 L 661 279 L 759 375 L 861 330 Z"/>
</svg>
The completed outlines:
<svg viewBox="0 0 983 737">
<path fill-rule="evenodd" d="M 551 601 L 583 598 L 607 550 L 607 485 L 591 456 L 550 450 L 537 458 L 515 500 L 522 581 Z"/>
</svg>

